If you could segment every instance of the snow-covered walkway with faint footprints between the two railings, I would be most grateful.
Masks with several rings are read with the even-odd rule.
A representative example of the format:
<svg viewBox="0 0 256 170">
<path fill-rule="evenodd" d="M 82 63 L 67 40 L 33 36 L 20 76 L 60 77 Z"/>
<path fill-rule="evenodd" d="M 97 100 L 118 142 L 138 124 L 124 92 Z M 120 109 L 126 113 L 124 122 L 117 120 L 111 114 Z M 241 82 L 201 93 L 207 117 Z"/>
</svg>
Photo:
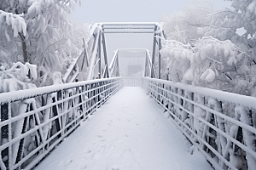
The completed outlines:
<svg viewBox="0 0 256 170">
<path fill-rule="evenodd" d="M 143 88 L 122 88 L 35 170 L 212 170 Z"/>
</svg>

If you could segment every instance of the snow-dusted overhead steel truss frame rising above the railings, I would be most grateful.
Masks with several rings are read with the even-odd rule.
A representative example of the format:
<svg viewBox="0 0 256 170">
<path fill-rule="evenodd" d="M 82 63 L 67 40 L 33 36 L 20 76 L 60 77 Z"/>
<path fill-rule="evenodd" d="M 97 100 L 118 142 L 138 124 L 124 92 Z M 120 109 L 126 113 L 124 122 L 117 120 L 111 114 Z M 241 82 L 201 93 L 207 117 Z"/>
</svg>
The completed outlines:
<svg viewBox="0 0 256 170">
<path fill-rule="evenodd" d="M 76 73 L 73 74 L 73 77 L 69 78 L 71 81 L 67 82 L 74 81 L 76 77 L 79 77 L 79 81 L 82 81 L 92 80 L 96 78 L 108 78 L 119 76 L 119 72 L 117 72 L 119 71 L 119 62 L 117 57 L 119 50 L 117 53 L 114 54 L 113 61 L 111 62 L 112 65 L 108 65 L 108 54 L 105 34 L 109 33 L 152 34 L 152 36 L 154 37 L 154 41 L 151 55 L 149 51 L 145 49 L 145 51 L 147 52 L 145 76 L 160 78 L 161 38 L 164 38 L 164 33 L 161 28 L 162 26 L 156 22 L 96 23 L 91 28 L 90 41 L 87 44 L 87 48 L 84 48 L 84 52 L 83 54 L 81 54 L 80 59 L 77 59 L 76 61 L 80 69 L 79 74 L 82 75 L 82 77 L 79 77 L 77 71 L 78 68 L 73 67 L 76 70 L 73 72 Z M 70 71 L 70 73 L 70 75 L 72 75 L 72 71 Z"/>
</svg>

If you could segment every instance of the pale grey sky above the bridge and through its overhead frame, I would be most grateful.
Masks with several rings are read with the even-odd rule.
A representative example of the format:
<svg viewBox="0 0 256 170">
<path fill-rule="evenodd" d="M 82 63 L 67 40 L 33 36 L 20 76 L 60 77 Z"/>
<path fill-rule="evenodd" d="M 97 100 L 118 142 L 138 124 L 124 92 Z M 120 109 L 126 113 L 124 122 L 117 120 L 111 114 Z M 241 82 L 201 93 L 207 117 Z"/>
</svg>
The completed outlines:
<svg viewBox="0 0 256 170">
<path fill-rule="evenodd" d="M 158 22 L 161 17 L 183 11 L 191 0 L 81 0 L 70 15 L 78 23 L 84 22 Z M 224 0 L 212 0 L 214 9 L 230 6 Z M 117 48 L 148 48 L 151 51 L 153 35 L 108 34 L 106 35 L 108 62 Z"/>
</svg>

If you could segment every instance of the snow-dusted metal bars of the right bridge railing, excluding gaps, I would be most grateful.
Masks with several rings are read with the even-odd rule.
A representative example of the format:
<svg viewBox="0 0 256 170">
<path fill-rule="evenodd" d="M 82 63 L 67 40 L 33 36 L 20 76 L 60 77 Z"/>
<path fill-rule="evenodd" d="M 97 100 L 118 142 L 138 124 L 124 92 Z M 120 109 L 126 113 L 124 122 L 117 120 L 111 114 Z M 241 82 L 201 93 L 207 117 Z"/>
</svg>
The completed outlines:
<svg viewBox="0 0 256 170">
<path fill-rule="evenodd" d="M 148 93 L 156 100 L 156 102 L 163 107 L 165 111 L 168 111 L 171 114 L 172 122 L 176 124 L 183 134 L 190 140 L 190 142 L 201 151 L 207 160 L 211 162 L 213 167 L 216 169 L 238 169 L 239 167 L 236 167 L 236 165 L 230 161 L 230 155 L 228 155 L 227 152 L 224 152 L 227 150 L 234 150 L 234 148 L 245 152 L 245 156 L 247 157 L 247 159 L 245 159 L 245 161 L 247 161 L 247 168 L 249 167 L 248 164 L 252 165 L 255 163 L 256 148 L 252 148 L 246 144 L 247 142 L 244 133 L 251 133 L 253 136 L 255 136 L 256 128 L 253 127 L 253 125 L 247 124 L 247 122 L 241 122 L 237 116 L 231 117 L 224 115 L 224 112 L 217 111 L 218 109 L 216 109 L 216 107 L 212 108 L 211 105 L 209 105 L 211 103 L 210 100 L 214 100 L 222 102 L 222 105 L 234 105 L 234 111 L 236 112 L 234 113 L 235 115 L 239 114 L 236 111 L 236 108 L 238 107 L 244 108 L 245 110 L 249 108 L 251 111 L 254 111 L 252 114 L 256 114 L 255 98 L 148 77 L 143 78 L 143 86 L 148 90 Z M 194 97 L 189 99 L 186 93 L 193 94 L 192 96 Z M 196 96 L 201 96 L 203 99 L 205 99 L 206 104 L 204 105 L 198 100 L 195 101 Z M 170 108 L 170 105 L 173 107 Z M 176 107 L 176 109 L 173 109 L 174 107 Z M 201 110 L 206 111 L 208 115 L 214 116 L 215 122 L 209 122 L 207 117 L 204 119 L 201 116 L 197 116 L 194 112 L 195 107 L 199 107 Z M 181 111 L 184 111 L 187 116 L 183 117 L 180 114 Z M 231 136 L 228 129 L 220 129 L 218 127 L 217 119 L 222 119 L 224 120 L 224 123 L 237 126 L 237 129 L 241 128 L 242 133 L 237 133 L 234 136 Z M 201 134 L 197 133 L 194 127 L 195 124 L 193 124 L 195 120 L 198 120 L 204 124 L 204 129 L 207 129 L 207 133 L 210 127 L 216 132 L 215 142 L 217 148 L 216 146 L 209 144 L 210 140 L 209 137 L 207 138 L 207 135 L 211 134 L 202 133 L 205 135 L 202 136 Z M 189 125 L 188 122 L 193 123 Z M 243 135 L 242 142 L 237 140 L 239 135 Z M 220 139 L 224 139 L 226 141 L 226 145 L 224 148 L 222 148 L 222 151 L 218 148 L 220 147 Z M 212 154 L 209 152 L 212 152 Z M 223 153 L 225 154 L 223 155 Z M 212 156 L 213 154 L 215 156 Z M 255 167 L 249 167 L 249 169 L 253 168 Z"/>
</svg>

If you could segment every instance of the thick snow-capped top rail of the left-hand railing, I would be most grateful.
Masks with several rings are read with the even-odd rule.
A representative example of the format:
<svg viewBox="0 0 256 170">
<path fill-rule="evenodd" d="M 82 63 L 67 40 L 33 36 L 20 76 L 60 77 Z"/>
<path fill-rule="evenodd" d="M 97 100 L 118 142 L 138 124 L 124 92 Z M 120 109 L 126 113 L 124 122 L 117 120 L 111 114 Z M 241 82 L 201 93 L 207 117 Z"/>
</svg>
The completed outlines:
<svg viewBox="0 0 256 170">
<path fill-rule="evenodd" d="M 3 103 L 7 103 L 10 101 L 17 101 L 20 99 L 28 99 L 31 97 L 35 97 L 41 94 L 51 94 L 54 92 L 57 92 L 61 89 L 68 89 L 68 88 L 77 88 L 79 86 L 84 86 L 91 83 L 96 82 L 105 82 L 110 81 L 114 79 L 119 79 L 121 77 L 112 77 L 112 78 L 102 78 L 102 79 L 96 79 L 96 80 L 90 80 L 90 81 L 83 81 L 83 82 L 73 82 L 73 83 L 67 83 L 67 84 L 58 84 L 42 87 L 42 88 L 30 88 L 26 90 L 20 90 L 20 91 L 14 91 L 9 93 L 3 93 L 0 94 L 0 105 Z"/>
</svg>

